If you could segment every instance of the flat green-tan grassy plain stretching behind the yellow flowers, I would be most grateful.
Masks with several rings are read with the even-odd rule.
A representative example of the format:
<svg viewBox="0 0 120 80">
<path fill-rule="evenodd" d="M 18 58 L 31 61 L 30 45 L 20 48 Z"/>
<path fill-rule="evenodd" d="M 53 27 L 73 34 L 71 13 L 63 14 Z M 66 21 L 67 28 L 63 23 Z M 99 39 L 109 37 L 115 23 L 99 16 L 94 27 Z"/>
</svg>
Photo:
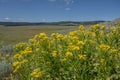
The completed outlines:
<svg viewBox="0 0 120 80">
<path fill-rule="evenodd" d="M 0 26 L 0 48 L 5 45 L 27 41 L 40 32 L 45 32 L 48 35 L 53 32 L 67 34 L 75 29 L 77 29 L 75 26 Z"/>
</svg>

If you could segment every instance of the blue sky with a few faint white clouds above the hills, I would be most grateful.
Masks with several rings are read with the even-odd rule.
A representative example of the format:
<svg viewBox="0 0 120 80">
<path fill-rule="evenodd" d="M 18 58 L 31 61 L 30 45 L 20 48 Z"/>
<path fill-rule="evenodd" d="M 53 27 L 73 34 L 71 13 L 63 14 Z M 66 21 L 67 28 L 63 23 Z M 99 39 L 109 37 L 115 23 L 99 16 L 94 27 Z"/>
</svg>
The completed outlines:
<svg viewBox="0 0 120 80">
<path fill-rule="evenodd" d="M 93 21 L 115 18 L 120 18 L 120 0 L 0 0 L 0 21 Z"/>
</svg>

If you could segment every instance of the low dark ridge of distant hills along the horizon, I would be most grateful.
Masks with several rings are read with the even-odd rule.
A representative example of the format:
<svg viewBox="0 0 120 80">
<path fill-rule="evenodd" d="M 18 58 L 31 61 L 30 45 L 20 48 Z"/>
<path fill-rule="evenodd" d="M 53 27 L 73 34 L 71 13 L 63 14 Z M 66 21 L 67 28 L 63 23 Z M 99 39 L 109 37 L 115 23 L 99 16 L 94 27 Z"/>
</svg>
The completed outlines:
<svg viewBox="0 0 120 80">
<path fill-rule="evenodd" d="M 80 24 L 93 25 L 103 23 L 106 21 L 60 21 L 60 22 L 0 22 L 3 26 L 28 26 L 28 25 L 63 25 L 63 26 L 77 26 Z"/>
</svg>

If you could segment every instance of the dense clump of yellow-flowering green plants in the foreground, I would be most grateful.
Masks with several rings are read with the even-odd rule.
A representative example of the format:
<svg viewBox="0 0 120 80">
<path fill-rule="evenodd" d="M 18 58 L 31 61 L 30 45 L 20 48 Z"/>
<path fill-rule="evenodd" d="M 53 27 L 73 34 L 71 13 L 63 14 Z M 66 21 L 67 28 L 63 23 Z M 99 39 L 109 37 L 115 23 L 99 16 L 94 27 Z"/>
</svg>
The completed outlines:
<svg viewBox="0 0 120 80">
<path fill-rule="evenodd" d="M 13 80 L 119 80 L 120 26 L 81 25 L 68 35 L 45 33 L 14 46 Z"/>
</svg>

